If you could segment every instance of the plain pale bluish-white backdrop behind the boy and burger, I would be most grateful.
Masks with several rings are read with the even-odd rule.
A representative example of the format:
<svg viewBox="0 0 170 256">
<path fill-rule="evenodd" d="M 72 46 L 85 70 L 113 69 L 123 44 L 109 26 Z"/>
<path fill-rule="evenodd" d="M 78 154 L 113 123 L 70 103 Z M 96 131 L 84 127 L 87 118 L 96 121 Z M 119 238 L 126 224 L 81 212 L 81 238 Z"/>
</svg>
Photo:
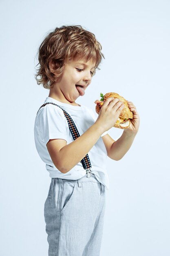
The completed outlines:
<svg viewBox="0 0 170 256">
<path fill-rule="evenodd" d="M 44 202 L 51 178 L 33 127 L 49 90 L 37 85 L 34 74 L 40 43 L 62 25 L 93 32 L 105 56 L 76 102 L 95 112 L 100 92 L 117 92 L 135 104 L 141 119 L 128 153 L 120 161 L 107 159 L 100 255 L 169 256 L 168 0 L 0 1 L 0 256 L 48 255 Z M 122 130 L 108 133 L 118 139 Z"/>
</svg>

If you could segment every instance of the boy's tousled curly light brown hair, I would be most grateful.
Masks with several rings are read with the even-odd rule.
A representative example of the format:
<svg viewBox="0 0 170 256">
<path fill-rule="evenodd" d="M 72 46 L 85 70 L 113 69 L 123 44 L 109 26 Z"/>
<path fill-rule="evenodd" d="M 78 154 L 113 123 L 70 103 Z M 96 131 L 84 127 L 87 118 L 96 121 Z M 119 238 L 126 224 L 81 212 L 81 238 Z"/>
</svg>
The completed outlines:
<svg viewBox="0 0 170 256">
<path fill-rule="evenodd" d="M 95 65 L 93 75 L 104 58 L 101 52 L 102 45 L 97 41 L 95 35 L 82 26 L 56 27 L 54 31 L 47 34 L 38 49 L 38 61 L 40 67 L 36 71 L 37 84 L 44 88 L 50 87 L 60 78 L 64 65 L 76 57 L 92 59 Z M 49 66 L 50 63 L 50 66 Z M 40 78 L 38 79 L 38 76 Z"/>
</svg>

